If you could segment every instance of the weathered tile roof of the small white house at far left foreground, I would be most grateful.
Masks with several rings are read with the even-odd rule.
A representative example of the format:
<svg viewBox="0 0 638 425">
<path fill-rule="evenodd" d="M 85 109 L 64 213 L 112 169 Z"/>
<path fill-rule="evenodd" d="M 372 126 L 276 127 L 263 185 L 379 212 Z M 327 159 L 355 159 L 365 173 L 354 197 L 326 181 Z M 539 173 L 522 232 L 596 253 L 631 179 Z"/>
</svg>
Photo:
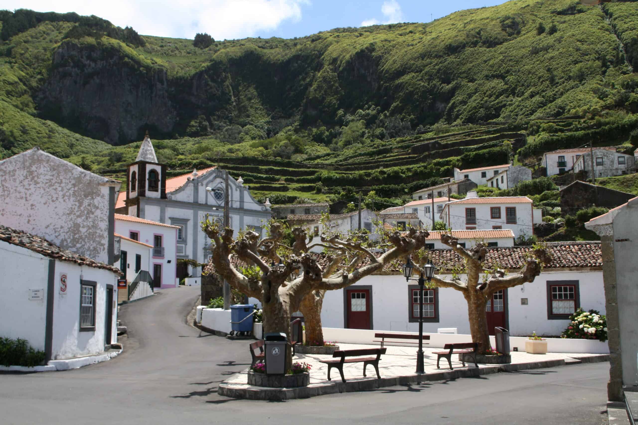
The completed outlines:
<svg viewBox="0 0 638 425">
<path fill-rule="evenodd" d="M 12 245 L 17 245 L 19 247 L 32 250 L 33 252 L 37 252 L 38 254 L 41 254 L 45 257 L 54 258 L 59 261 L 67 261 L 68 263 L 80 264 L 80 266 L 89 266 L 110 270 L 117 275 L 122 275 L 122 272 L 119 270 L 119 268 L 110 266 L 106 263 L 100 263 L 100 261 L 95 261 L 94 259 L 91 259 L 89 257 L 80 256 L 80 254 L 75 254 L 75 252 L 71 252 L 70 250 L 61 249 L 57 245 L 50 243 L 45 238 L 40 238 L 40 236 L 26 233 L 22 230 L 13 229 L 11 227 L 6 227 L 1 224 L 0 240 L 11 243 Z"/>
</svg>

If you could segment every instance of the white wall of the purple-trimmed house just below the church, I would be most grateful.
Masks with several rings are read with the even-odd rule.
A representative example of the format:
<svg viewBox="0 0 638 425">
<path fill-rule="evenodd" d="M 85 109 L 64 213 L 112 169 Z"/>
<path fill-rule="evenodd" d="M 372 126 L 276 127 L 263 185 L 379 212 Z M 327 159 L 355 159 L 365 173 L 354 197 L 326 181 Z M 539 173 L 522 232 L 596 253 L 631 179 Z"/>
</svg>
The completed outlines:
<svg viewBox="0 0 638 425">
<path fill-rule="evenodd" d="M 147 219 L 151 220 L 151 219 Z M 177 249 L 177 229 L 175 227 L 160 226 L 158 224 L 148 224 L 133 222 L 129 220 L 121 220 L 115 218 L 115 233 L 128 237 L 131 231 L 140 232 L 140 242 L 153 245 L 154 234 L 162 235 L 162 243 L 164 246 L 164 258 L 152 257 L 149 259 L 149 273 L 153 275 L 153 264 L 159 263 L 162 265 L 161 274 L 161 287 L 172 288 L 179 285 L 177 278 L 175 277 L 175 267 L 177 262 L 177 255 L 175 250 Z M 170 260 L 170 263 L 168 261 Z M 131 257 L 128 259 L 131 263 Z M 132 266 L 135 267 L 135 256 L 132 257 Z"/>
</svg>

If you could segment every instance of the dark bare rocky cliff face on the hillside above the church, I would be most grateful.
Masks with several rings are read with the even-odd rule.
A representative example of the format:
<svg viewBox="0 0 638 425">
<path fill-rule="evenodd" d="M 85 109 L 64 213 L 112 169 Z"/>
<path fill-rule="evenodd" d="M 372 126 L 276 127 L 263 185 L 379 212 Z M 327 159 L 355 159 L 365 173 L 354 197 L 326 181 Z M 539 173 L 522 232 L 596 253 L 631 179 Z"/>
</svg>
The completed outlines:
<svg viewBox="0 0 638 425">
<path fill-rule="evenodd" d="M 171 133 L 178 114 L 170 91 L 165 69 L 140 68 L 117 50 L 62 43 L 36 101 L 43 117 L 119 144 L 149 127 Z"/>
</svg>

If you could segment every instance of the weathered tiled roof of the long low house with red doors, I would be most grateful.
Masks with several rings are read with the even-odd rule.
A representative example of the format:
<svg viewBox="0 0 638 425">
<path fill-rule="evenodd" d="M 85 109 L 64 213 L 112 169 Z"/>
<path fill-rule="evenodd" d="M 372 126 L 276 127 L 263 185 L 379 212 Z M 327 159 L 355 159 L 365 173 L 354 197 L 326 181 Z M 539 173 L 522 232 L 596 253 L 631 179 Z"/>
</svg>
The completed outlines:
<svg viewBox="0 0 638 425">
<path fill-rule="evenodd" d="M 551 261 L 549 264 L 545 264 L 545 269 L 602 268 L 600 241 L 550 242 L 547 244 L 547 250 L 551 256 Z M 490 269 L 492 266 L 498 264 L 500 267 L 508 270 L 521 269 L 526 262 L 526 255 L 531 254 L 532 251 L 532 247 L 487 248 L 484 266 Z M 315 257 L 317 263 L 320 264 L 322 268 L 325 268 L 329 263 L 327 254 L 311 253 L 310 255 Z M 380 257 L 381 255 L 382 252 L 375 253 L 376 257 Z M 465 264 L 464 259 L 452 249 L 431 249 L 427 251 L 427 255 L 435 266 L 445 268 L 442 270 L 443 273 L 451 267 L 464 266 Z M 246 264 L 242 263 L 236 256 L 233 256 L 231 261 L 234 266 L 246 266 Z M 369 260 L 366 259 L 359 267 L 365 266 L 368 263 Z M 214 264 L 207 264 L 204 271 L 207 273 L 214 272 Z M 389 264 L 385 264 L 382 273 L 403 273 L 403 259 L 396 259 Z"/>
</svg>

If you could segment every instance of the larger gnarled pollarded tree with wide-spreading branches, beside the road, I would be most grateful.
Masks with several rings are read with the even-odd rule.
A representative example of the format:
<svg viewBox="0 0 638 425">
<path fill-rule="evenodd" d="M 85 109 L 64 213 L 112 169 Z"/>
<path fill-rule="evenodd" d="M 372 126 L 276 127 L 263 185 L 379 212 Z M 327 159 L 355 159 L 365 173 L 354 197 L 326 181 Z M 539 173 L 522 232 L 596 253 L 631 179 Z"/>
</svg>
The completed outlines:
<svg viewBox="0 0 638 425">
<path fill-rule="evenodd" d="M 313 291 L 330 291 L 342 289 L 358 282 L 383 269 L 385 264 L 406 258 L 412 252 L 422 249 L 428 236 L 426 231 L 410 230 L 401 234 L 395 231 L 387 236 L 392 249 L 380 256 L 362 247 L 360 242 L 340 240 L 336 236 L 327 238 L 322 235 L 322 245 L 338 254 L 330 259 L 330 263 L 322 269 L 315 257 L 306 251 L 304 229 L 293 229 L 295 245 L 293 250 L 298 254 L 290 254 L 283 258 L 281 238 L 283 229 L 277 222 L 269 223 L 269 234 L 260 240 L 259 235 L 247 231 L 241 238 L 233 238 L 233 229 L 221 229 L 219 224 L 211 222 L 208 217 L 202 222 L 202 230 L 214 243 L 212 247 L 212 263 L 216 273 L 223 277 L 238 291 L 259 299 L 263 310 L 263 332 L 283 332 L 290 339 L 290 315 L 299 310 L 302 300 Z M 241 273 L 235 268 L 231 256 L 249 266 L 254 273 Z M 346 262 L 346 257 L 351 257 Z M 365 265 L 361 265 L 364 263 Z M 268 260 L 271 264 L 268 264 Z M 315 309 L 315 311 L 317 311 Z M 318 314 L 320 315 L 320 310 Z M 306 318 L 308 323 L 309 317 Z M 313 321 L 320 319 L 312 317 Z M 320 321 L 319 328 L 320 328 Z M 308 339 L 308 335 L 307 335 Z M 323 341 L 323 337 L 321 338 Z M 286 350 L 286 369 L 292 367 L 292 351 Z"/>
</svg>

